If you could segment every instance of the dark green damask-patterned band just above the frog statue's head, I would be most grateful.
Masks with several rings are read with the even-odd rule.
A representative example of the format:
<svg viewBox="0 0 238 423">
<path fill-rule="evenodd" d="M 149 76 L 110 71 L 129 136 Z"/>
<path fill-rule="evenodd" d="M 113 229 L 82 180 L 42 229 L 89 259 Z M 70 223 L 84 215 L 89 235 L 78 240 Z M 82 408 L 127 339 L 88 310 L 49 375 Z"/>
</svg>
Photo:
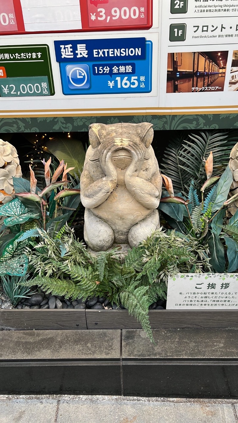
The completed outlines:
<svg viewBox="0 0 238 423">
<path fill-rule="evenodd" d="M 154 130 L 230 129 L 238 126 L 238 114 L 79 116 L 67 118 L 0 118 L 0 132 L 88 131 L 90 124 L 150 122 Z"/>
</svg>

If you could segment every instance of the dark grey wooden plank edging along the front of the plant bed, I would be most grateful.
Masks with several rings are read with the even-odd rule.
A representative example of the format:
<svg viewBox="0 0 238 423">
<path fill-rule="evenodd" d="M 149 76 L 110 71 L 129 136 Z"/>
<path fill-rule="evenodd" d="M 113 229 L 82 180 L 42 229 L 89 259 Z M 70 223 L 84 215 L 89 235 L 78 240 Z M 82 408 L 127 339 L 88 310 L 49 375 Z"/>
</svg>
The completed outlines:
<svg viewBox="0 0 238 423">
<path fill-rule="evenodd" d="M 238 328 L 235 310 L 150 310 L 152 329 Z M 140 329 L 127 310 L 0 310 L 0 330 Z"/>
</svg>

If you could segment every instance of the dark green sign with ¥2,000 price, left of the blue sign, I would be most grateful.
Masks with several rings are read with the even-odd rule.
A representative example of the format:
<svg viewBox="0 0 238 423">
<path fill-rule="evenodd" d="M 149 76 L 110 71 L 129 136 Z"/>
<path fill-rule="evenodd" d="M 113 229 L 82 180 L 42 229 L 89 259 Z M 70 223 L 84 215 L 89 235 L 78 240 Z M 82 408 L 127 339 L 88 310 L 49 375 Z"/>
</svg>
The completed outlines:
<svg viewBox="0 0 238 423">
<path fill-rule="evenodd" d="M 47 84 L 47 88 L 41 84 Z M 55 88 L 49 46 L 32 44 L 0 47 L 0 85 L 0 95 L 4 97 L 53 96 Z M 8 87 L 9 92 L 6 92 L 7 89 L 4 90 L 2 85 L 5 88 L 6 85 L 15 85 L 15 88 Z"/>
</svg>

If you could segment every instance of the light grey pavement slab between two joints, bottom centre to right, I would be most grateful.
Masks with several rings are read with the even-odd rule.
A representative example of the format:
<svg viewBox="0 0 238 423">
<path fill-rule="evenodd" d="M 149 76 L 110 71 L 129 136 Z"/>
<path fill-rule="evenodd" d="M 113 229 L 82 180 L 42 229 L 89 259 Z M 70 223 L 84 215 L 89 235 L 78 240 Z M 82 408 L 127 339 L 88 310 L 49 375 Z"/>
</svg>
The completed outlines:
<svg viewBox="0 0 238 423">
<path fill-rule="evenodd" d="M 202 402 L 202 401 L 201 401 Z M 88 412 L 90 410 L 90 413 Z M 113 410 L 113 411 L 112 411 Z M 61 400 L 57 423 L 104 423 L 112 415 L 115 423 L 235 423 L 231 404 L 186 404 L 175 402 Z"/>
</svg>

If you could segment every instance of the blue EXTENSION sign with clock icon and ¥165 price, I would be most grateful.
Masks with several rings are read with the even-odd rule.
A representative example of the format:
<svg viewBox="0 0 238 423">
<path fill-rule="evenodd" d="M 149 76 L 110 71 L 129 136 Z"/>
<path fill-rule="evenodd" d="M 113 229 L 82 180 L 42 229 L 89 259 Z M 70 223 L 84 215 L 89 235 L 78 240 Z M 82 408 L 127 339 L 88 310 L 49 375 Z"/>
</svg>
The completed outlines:
<svg viewBox="0 0 238 423">
<path fill-rule="evenodd" d="M 65 95 L 152 90 L 152 41 L 144 37 L 55 41 L 55 54 Z"/>
</svg>

